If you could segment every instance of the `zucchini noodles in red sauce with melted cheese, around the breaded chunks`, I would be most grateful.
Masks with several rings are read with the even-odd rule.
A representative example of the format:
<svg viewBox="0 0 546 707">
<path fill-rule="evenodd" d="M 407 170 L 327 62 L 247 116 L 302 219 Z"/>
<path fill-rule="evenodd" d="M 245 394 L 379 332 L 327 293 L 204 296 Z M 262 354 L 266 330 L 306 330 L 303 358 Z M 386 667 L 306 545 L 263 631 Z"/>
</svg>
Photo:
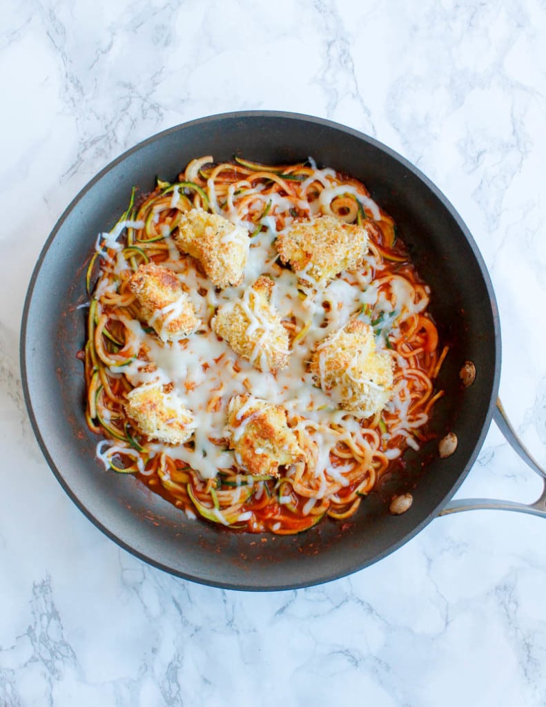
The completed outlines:
<svg viewBox="0 0 546 707">
<path fill-rule="evenodd" d="M 223 216 L 248 233 L 240 285 L 215 288 L 197 260 L 178 251 L 178 224 L 192 209 Z M 318 216 L 366 224 L 370 235 L 359 267 L 325 286 L 298 280 L 275 247 L 277 235 L 296 219 Z M 141 321 L 129 279 L 149 263 L 175 273 L 201 322 L 178 341 L 161 340 Z M 263 274 L 274 280 L 274 305 L 289 337 L 289 366 L 276 372 L 256 370 L 211 329 L 218 308 L 241 298 Z M 448 347 L 439 344 L 427 309 L 429 287 L 397 238 L 393 219 L 366 187 L 311 159 L 260 165 L 198 158 L 176 182 L 158 180 L 141 196 L 133 189 L 115 227 L 96 240 L 86 286 L 87 342 L 80 357 L 86 421 L 101 437 L 97 456 L 192 518 L 275 534 L 301 532 L 326 517 L 347 520 L 408 447 L 419 449 L 430 438 L 427 423 L 443 396 L 435 380 Z M 169 307 L 158 314 L 175 311 Z M 339 407 L 309 372 L 320 341 L 356 319 L 373 329 L 378 351 L 388 352 L 393 366 L 392 397 L 368 418 Z M 195 415 L 195 431 L 183 444 L 148 438 L 127 416 L 129 392 L 154 380 L 175 390 Z M 278 477 L 245 472 L 230 448 L 228 403 L 249 392 L 283 406 L 304 452 L 303 461 L 280 467 Z"/>
</svg>

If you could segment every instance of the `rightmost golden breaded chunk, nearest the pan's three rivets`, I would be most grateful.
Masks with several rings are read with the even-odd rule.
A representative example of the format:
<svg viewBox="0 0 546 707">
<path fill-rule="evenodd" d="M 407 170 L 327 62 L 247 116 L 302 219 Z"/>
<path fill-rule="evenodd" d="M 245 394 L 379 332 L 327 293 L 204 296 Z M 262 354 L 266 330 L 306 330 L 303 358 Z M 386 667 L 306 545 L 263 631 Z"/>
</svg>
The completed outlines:
<svg viewBox="0 0 546 707">
<path fill-rule="evenodd" d="M 354 320 L 318 344 L 310 370 L 341 407 L 366 417 L 381 411 L 393 392 L 393 362 L 376 351 L 373 329 Z"/>
</svg>

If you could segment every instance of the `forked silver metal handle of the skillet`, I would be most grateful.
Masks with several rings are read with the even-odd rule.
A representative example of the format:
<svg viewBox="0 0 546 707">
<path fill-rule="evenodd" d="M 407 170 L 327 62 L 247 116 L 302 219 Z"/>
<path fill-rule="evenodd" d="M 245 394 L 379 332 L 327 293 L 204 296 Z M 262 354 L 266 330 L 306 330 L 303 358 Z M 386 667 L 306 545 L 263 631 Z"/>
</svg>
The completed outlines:
<svg viewBox="0 0 546 707">
<path fill-rule="evenodd" d="M 511 426 L 509 419 L 506 417 L 506 412 L 499 399 L 496 400 L 496 408 L 493 413 L 493 419 L 496 426 L 503 433 L 506 441 L 511 447 L 518 452 L 518 455 L 523 459 L 525 464 L 533 469 L 535 474 L 542 479 L 542 493 L 535 503 L 516 503 L 515 501 L 500 501 L 496 498 L 463 498 L 460 501 L 450 501 L 447 506 L 441 510 L 438 515 L 449 515 L 450 513 L 458 513 L 460 510 L 518 510 L 520 513 L 530 513 L 531 515 L 539 515 L 546 518 L 546 471 L 542 469 L 540 464 L 533 459 L 525 445 L 518 438 L 516 431 Z"/>
</svg>

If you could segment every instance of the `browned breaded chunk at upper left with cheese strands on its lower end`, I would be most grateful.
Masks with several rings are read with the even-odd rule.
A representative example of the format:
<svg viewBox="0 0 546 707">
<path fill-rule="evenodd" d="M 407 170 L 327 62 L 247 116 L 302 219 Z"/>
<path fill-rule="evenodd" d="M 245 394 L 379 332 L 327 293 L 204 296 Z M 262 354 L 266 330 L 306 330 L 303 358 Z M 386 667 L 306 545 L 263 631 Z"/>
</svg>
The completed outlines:
<svg viewBox="0 0 546 707">
<path fill-rule="evenodd" d="M 131 276 L 129 288 L 136 296 L 142 318 L 162 341 L 187 337 L 201 324 L 192 300 L 172 270 L 154 263 L 141 265 Z"/>
</svg>

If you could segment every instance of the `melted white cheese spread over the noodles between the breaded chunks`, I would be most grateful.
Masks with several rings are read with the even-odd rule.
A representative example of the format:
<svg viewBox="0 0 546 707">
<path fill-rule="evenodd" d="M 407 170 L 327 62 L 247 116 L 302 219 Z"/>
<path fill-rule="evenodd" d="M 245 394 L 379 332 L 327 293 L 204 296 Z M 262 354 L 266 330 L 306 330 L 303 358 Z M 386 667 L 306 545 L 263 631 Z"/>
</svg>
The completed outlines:
<svg viewBox="0 0 546 707">
<path fill-rule="evenodd" d="M 314 166 L 314 163 L 312 164 Z M 320 208 L 323 213 L 331 213 L 332 199 L 337 195 L 349 193 L 354 194 L 366 209 L 371 211 L 374 218 L 380 218 L 375 202 L 353 185 L 333 185 L 334 178 L 333 170 L 315 168 L 313 175 L 310 175 L 306 182 L 301 182 L 303 193 L 314 181 L 320 182 L 325 187 L 319 199 L 313 202 L 313 208 L 308 208 L 308 211 L 317 213 Z M 248 187 L 251 185 L 249 184 Z M 261 189 L 261 186 L 249 188 L 245 190 L 245 194 L 257 193 Z M 233 201 L 234 190 L 231 187 L 228 188 L 226 209 L 221 209 L 219 206 L 212 180 L 207 182 L 207 192 L 211 209 L 216 214 L 226 216 L 236 225 L 245 228 L 245 231 L 255 228 L 243 218 L 248 211 L 238 214 Z M 173 192 L 171 204 L 175 203 L 175 197 L 178 201 L 178 192 L 176 194 Z M 279 211 L 290 209 L 294 205 L 290 199 L 277 194 L 273 197 L 271 194 L 265 195 L 264 201 L 266 199 L 271 200 L 272 206 L 277 207 Z M 308 206 L 307 201 L 303 203 Z M 313 214 L 310 213 L 310 217 L 312 216 Z M 139 227 L 136 223 L 124 223 L 125 226 Z M 359 440 L 364 447 L 367 445 L 361 435 L 359 415 L 337 409 L 332 398 L 317 387 L 315 380 L 308 373 L 308 363 L 315 347 L 318 346 L 320 349 L 319 342 L 322 339 L 339 331 L 355 317 L 360 316 L 371 324 L 381 314 L 385 315 L 385 324 L 381 329 L 381 335 L 378 336 L 377 344 L 385 346 L 385 339 L 391 328 L 396 332 L 400 322 L 405 318 L 422 312 L 429 298 L 427 294 L 419 299 L 412 285 L 403 278 L 394 278 L 390 284 L 381 284 L 382 266 L 371 251 L 366 255 L 364 267 L 358 273 L 342 274 L 326 287 L 319 286 L 317 283 L 313 283 L 314 286 L 302 286 L 298 284 L 298 278 L 293 272 L 289 269 L 280 270 L 276 264 L 278 254 L 274 247 L 274 239 L 277 235 L 277 226 L 274 216 L 262 217 L 259 223 L 263 228 L 260 234 L 252 238 L 243 282 L 239 286 L 228 287 L 222 291 L 216 291 L 209 284 L 209 281 L 195 269 L 191 258 L 179 254 L 170 237 L 165 238 L 168 244 L 168 259 L 162 264 L 177 273 L 194 303 L 197 317 L 204 322 L 204 326 L 184 341 L 169 343 L 158 340 L 155 334 L 147 334 L 139 322 L 124 320 L 132 337 L 132 346 L 135 350 L 146 351 L 148 360 L 141 361 L 137 358 L 124 367 L 123 373 L 135 386 L 153 380 L 173 385 L 175 393 L 194 416 L 195 432 L 192 444 L 173 447 L 153 442 L 149 444 L 149 449 L 152 454 L 167 452 L 175 460 L 190 464 L 203 479 L 216 477 L 219 469 L 233 467 L 237 461 L 232 450 L 218 444 L 219 440 L 226 439 L 226 416 L 228 403 L 232 397 L 250 392 L 252 397 L 249 404 L 255 402 L 256 398 L 262 399 L 272 404 L 283 405 L 289 419 L 296 415 L 302 416 L 304 419 L 296 423 L 295 431 L 310 439 L 315 455 L 313 473 L 319 482 L 315 498 L 310 498 L 303 510 L 304 513 L 309 513 L 315 505 L 316 498 L 322 498 L 326 493 L 326 474 L 330 480 L 333 479 L 339 484 L 339 487 L 348 483 L 344 474 L 352 466 L 332 469 L 330 464 L 330 454 L 335 445 L 349 438 Z M 290 223 L 291 220 L 287 218 L 285 227 L 289 228 Z M 105 238 L 104 234 L 100 236 L 102 242 L 99 246 L 98 239 L 98 250 L 103 257 L 108 257 L 108 254 L 105 254 L 105 247 L 113 250 L 120 248 L 120 244 L 117 243 L 118 235 L 119 233 L 117 235 L 112 233 L 108 238 Z M 227 241 L 233 238 L 234 235 L 227 235 L 226 245 Z M 112 262 L 112 266 L 115 269 L 129 267 L 121 258 L 115 263 Z M 248 288 L 261 274 L 274 278 L 272 305 L 281 318 L 295 319 L 298 329 L 302 332 L 301 336 L 296 336 L 291 347 L 289 365 L 284 370 L 279 370 L 276 375 L 256 370 L 252 366 L 252 361 L 245 361 L 237 356 L 226 341 L 219 341 L 210 328 L 210 320 L 216 308 L 221 305 L 233 305 L 237 301 L 243 306 L 250 321 L 248 335 L 257 329 L 265 334 L 271 331 L 272 322 L 257 313 L 248 301 Z M 376 280 L 373 279 L 374 277 Z M 104 289 L 100 290 L 101 286 L 104 287 L 99 286 L 99 293 L 104 293 Z M 299 296 L 298 289 L 303 291 L 305 296 Z M 177 303 L 159 310 L 156 316 L 165 314 L 169 316 L 164 325 L 170 318 L 178 315 Z M 259 343 L 252 354 L 252 360 L 255 361 L 260 356 L 262 354 Z M 407 368 L 407 361 L 402 356 L 393 354 L 393 358 L 397 368 Z M 111 369 L 111 371 L 112 374 L 120 375 L 119 370 Z M 324 371 L 320 370 L 320 377 L 323 376 Z M 400 424 L 395 432 L 400 433 L 406 438 L 408 445 L 414 447 L 417 443 L 412 436 L 412 428 L 422 424 L 422 419 L 417 421 L 409 419 L 409 402 L 407 383 L 402 379 L 395 387 L 393 397 L 388 403 L 388 410 L 396 412 L 400 418 Z M 244 413 L 244 408 L 239 411 L 239 419 Z M 236 436 L 243 433 L 251 419 L 252 415 L 237 428 L 234 432 Z M 332 428 L 332 424 L 341 426 L 342 431 Z M 106 464 L 106 455 L 115 453 L 117 448 L 111 445 L 110 449 L 105 451 L 104 445 L 104 442 L 99 443 L 98 456 Z M 139 463 L 138 455 L 133 455 L 131 450 L 124 448 L 123 453 L 134 456 Z M 399 454 L 399 450 L 389 450 L 388 458 L 394 459 Z M 139 468 L 140 466 L 141 462 Z M 294 469 L 289 469 L 288 475 L 290 476 L 293 471 Z M 219 511 L 217 516 L 219 522 L 226 522 Z M 239 520 L 245 520 L 243 516 L 245 514 L 241 515 Z"/>
</svg>

